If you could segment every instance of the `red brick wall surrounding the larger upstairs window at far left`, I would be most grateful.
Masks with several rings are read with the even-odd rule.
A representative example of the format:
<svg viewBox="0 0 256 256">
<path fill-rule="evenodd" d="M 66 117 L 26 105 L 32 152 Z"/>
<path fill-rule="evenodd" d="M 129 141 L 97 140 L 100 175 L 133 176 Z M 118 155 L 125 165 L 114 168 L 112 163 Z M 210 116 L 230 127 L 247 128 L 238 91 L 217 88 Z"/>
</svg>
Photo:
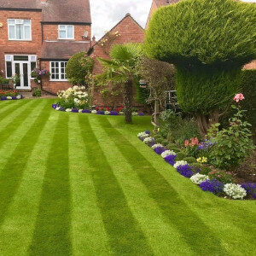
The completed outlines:
<svg viewBox="0 0 256 256">
<path fill-rule="evenodd" d="M 8 19 L 32 20 L 32 41 L 9 41 Z M 0 70 L 5 72 L 5 54 L 40 55 L 42 45 L 41 12 L 0 10 Z"/>
</svg>

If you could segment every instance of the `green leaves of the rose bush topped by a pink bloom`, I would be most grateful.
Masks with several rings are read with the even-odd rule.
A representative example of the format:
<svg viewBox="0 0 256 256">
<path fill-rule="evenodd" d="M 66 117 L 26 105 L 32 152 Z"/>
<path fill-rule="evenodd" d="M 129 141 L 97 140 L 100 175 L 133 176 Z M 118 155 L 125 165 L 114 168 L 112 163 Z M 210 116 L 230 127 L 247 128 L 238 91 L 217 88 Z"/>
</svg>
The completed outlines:
<svg viewBox="0 0 256 256">
<path fill-rule="evenodd" d="M 249 130 L 251 125 L 242 120 L 246 111 L 241 110 L 239 105 L 232 105 L 232 108 L 236 109 L 236 113 L 230 119 L 230 127 L 218 131 L 219 124 L 212 125 L 208 133 L 208 137 L 216 143 L 210 150 L 209 161 L 212 166 L 230 171 L 234 171 L 254 148 Z"/>
</svg>

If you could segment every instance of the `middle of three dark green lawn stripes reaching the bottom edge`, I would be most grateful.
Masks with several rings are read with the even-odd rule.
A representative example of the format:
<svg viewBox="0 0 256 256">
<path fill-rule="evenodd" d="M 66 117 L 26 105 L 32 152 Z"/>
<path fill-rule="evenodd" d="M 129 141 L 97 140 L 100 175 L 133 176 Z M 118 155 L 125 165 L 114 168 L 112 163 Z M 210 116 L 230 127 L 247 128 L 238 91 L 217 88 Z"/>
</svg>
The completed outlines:
<svg viewBox="0 0 256 256">
<path fill-rule="evenodd" d="M 102 212 L 113 252 L 118 255 L 153 254 L 143 231 L 127 205 L 124 192 L 113 175 L 113 170 L 90 127 L 88 117 L 79 115 L 79 125 L 83 131 L 82 137 L 90 166 L 89 172 L 96 189 L 98 207 Z"/>
</svg>

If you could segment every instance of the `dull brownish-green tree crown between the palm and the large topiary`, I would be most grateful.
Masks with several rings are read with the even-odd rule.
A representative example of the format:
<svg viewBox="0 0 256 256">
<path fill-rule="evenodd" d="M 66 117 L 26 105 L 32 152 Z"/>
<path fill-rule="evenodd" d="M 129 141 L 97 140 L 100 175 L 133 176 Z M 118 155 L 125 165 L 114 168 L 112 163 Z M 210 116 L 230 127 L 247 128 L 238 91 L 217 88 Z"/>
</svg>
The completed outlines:
<svg viewBox="0 0 256 256">
<path fill-rule="evenodd" d="M 150 90 L 148 100 L 157 100 L 163 106 L 166 101 L 166 90 L 174 90 L 174 67 L 164 61 L 143 57 L 140 73 L 148 83 Z"/>
</svg>

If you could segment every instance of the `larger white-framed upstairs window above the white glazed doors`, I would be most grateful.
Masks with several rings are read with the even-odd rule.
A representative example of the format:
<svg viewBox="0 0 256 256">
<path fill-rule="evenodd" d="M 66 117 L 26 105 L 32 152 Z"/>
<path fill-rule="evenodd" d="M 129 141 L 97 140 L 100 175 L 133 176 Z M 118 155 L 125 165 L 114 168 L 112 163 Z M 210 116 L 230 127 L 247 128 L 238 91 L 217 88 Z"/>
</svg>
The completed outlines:
<svg viewBox="0 0 256 256">
<path fill-rule="evenodd" d="M 31 20 L 8 20 L 9 40 L 31 41 Z"/>
</svg>

